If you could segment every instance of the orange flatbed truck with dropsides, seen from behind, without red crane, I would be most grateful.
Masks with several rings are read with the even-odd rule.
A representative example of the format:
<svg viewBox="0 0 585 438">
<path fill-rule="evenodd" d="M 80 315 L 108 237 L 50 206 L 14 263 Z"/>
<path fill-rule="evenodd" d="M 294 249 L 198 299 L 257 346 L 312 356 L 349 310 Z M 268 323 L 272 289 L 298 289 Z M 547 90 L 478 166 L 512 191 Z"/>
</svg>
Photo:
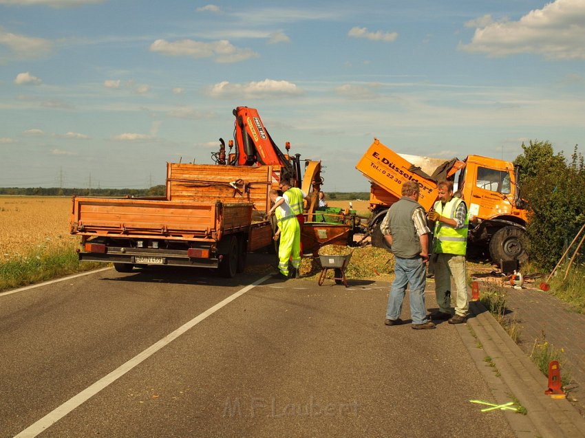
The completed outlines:
<svg viewBox="0 0 585 438">
<path fill-rule="evenodd" d="M 242 272 L 248 251 L 273 244 L 264 215 L 278 166 L 167 163 L 161 198 L 73 197 L 70 232 L 79 259 L 134 265 L 213 267 Z"/>
</svg>

